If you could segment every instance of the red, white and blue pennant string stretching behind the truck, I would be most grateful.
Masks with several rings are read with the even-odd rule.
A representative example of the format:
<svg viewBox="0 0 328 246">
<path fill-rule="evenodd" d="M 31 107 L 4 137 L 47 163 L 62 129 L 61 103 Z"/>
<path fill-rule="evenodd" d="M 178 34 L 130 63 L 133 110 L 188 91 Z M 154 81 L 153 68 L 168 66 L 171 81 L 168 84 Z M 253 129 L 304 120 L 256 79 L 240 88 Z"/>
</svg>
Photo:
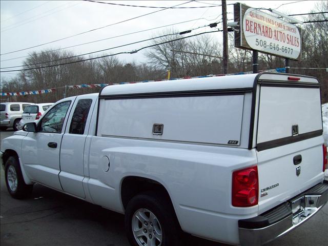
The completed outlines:
<svg viewBox="0 0 328 246">
<path fill-rule="evenodd" d="M 268 72 L 277 72 L 277 73 L 285 73 L 285 68 L 276 68 L 265 70 Z M 240 74 L 251 74 L 253 72 L 239 72 L 239 73 L 229 73 L 229 74 L 210 74 L 205 76 L 196 76 L 196 77 L 183 77 L 183 78 L 170 78 L 170 80 L 178 80 L 178 79 L 188 79 L 188 78 L 207 78 L 207 77 L 218 77 L 218 76 L 229 76 L 229 75 L 240 75 Z M 105 86 L 112 86 L 112 85 L 125 85 L 125 84 L 136 84 L 136 83 L 147 83 L 147 82 L 155 82 L 155 81 L 167 81 L 168 79 L 159 79 L 159 80 L 142 80 L 136 82 L 121 82 L 121 83 L 111 83 L 111 84 L 93 84 L 93 85 L 73 85 L 67 86 L 69 89 L 81 89 L 81 88 L 97 88 L 97 87 L 105 87 Z M 1 96 L 24 96 L 24 95 L 37 95 L 37 94 L 47 94 L 54 92 L 57 88 L 46 89 L 46 90 L 39 90 L 39 91 L 21 91 L 21 92 L 0 92 Z"/>
</svg>

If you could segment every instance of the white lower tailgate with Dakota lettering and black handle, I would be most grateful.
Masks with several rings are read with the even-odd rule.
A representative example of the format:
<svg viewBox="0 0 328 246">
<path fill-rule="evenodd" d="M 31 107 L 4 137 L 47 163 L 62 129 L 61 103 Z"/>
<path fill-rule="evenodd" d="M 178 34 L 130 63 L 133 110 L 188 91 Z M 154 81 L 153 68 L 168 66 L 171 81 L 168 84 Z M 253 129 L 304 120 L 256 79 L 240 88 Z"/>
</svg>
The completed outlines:
<svg viewBox="0 0 328 246">
<path fill-rule="evenodd" d="M 322 181 L 322 142 L 320 136 L 257 152 L 259 214 Z"/>
</svg>

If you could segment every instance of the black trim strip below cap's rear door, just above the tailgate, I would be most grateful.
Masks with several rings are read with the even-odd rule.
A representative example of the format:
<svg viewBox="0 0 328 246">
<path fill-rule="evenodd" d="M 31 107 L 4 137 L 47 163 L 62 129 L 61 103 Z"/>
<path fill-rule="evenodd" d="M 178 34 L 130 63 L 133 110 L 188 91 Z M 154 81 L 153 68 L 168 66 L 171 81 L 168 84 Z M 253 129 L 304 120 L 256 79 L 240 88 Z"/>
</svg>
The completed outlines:
<svg viewBox="0 0 328 246">
<path fill-rule="evenodd" d="M 313 131 L 313 132 L 302 133 L 297 136 L 289 136 L 289 137 L 283 137 L 283 138 L 279 138 L 279 139 L 275 139 L 275 140 L 271 140 L 271 141 L 267 141 L 267 142 L 260 142 L 259 144 L 257 144 L 257 151 L 276 148 L 279 146 L 292 144 L 293 142 L 298 142 L 298 141 L 302 141 L 305 139 L 318 137 L 318 136 L 322 135 L 322 132 L 323 132 L 322 130 L 317 130 L 317 131 Z"/>
</svg>

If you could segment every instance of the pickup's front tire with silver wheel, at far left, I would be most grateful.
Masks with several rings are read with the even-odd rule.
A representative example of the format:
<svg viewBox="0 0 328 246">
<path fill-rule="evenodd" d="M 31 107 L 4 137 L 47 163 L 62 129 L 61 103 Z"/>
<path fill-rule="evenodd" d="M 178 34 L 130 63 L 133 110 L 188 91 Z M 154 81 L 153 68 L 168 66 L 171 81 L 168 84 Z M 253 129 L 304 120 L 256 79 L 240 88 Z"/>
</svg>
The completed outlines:
<svg viewBox="0 0 328 246">
<path fill-rule="evenodd" d="M 15 199 L 29 197 L 33 190 L 33 185 L 26 185 L 18 160 L 10 156 L 5 165 L 6 185 L 9 194 Z"/>
</svg>

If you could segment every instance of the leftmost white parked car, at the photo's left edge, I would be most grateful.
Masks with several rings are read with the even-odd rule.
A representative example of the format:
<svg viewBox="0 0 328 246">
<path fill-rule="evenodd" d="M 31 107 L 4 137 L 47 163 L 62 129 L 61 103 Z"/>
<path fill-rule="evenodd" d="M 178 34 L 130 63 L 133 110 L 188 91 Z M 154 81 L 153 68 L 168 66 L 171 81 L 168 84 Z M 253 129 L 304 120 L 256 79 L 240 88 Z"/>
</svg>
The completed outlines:
<svg viewBox="0 0 328 246">
<path fill-rule="evenodd" d="M 19 121 L 25 107 L 32 103 L 2 103 L 0 104 L 0 130 L 5 131 L 12 127 L 15 131 L 20 129 Z"/>
</svg>

